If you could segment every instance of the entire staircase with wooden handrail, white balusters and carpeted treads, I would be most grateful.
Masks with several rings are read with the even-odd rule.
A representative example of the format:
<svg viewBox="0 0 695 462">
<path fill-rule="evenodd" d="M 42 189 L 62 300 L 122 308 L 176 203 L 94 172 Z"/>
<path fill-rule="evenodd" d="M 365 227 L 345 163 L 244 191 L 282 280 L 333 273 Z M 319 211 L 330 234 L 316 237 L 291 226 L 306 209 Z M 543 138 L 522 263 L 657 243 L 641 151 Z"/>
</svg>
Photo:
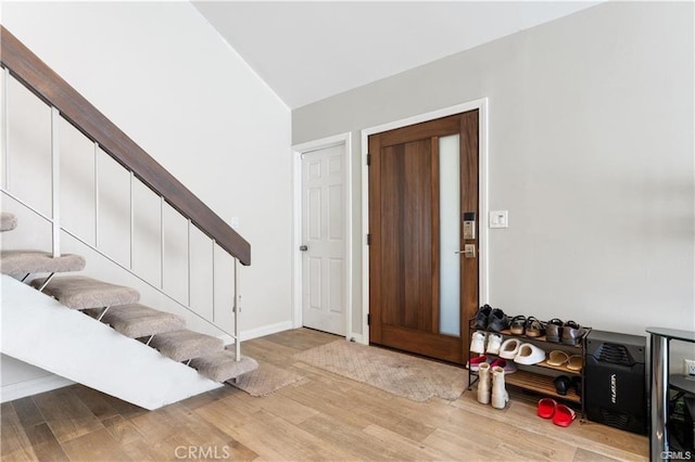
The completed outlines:
<svg viewBox="0 0 695 462">
<path fill-rule="evenodd" d="M 249 242 L 2 25 L 0 67 L 0 192 L 3 207 L 16 214 L 2 213 L 1 231 L 13 233 L 3 241 L 51 249 L 1 249 L 1 352 L 146 409 L 220 387 L 255 369 L 240 350 L 238 267 L 251 265 Z M 152 208 L 139 208 L 139 201 L 153 200 L 159 217 Z M 17 216 L 28 223 L 24 231 L 22 223 L 13 231 Z M 175 224 L 165 227 L 166 217 Z M 186 242 L 167 241 L 165 231 L 180 236 L 181 223 Z M 146 230 L 143 241 L 136 240 L 137 227 Z M 186 329 L 177 315 L 140 304 L 135 288 L 83 274 L 85 258 L 63 254 L 63 240 L 73 253 L 88 253 L 92 275 L 141 283 L 143 297 L 156 300 L 152 304 L 185 310 L 177 312 L 190 315 L 197 329 L 229 335 L 233 347 Z M 129 244 L 129 257 L 122 255 L 122 243 Z M 154 261 L 137 251 L 155 247 L 159 278 L 134 264 Z M 206 270 L 193 266 L 200 255 L 207 258 Z M 233 277 L 217 284 L 217 300 L 215 278 L 227 274 L 227 262 Z M 165 267 L 173 270 L 168 279 Z M 181 272 L 186 282 L 176 279 Z M 193 293 L 194 277 L 207 274 L 203 290 Z M 218 312 L 215 319 L 216 304 L 229 306 L 231 319 Z"/>
</svg>

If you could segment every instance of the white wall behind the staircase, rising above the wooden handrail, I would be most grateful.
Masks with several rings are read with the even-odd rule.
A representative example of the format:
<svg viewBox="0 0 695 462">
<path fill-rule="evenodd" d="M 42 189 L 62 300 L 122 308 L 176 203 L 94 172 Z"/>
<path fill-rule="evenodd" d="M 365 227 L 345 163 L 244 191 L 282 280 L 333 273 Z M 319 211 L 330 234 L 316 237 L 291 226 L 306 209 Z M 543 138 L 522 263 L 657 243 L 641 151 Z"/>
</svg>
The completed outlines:
<svg viewBox="0 0 695 462">
<path fill-rule="evenodd" d="M 225 221 L 239 218 L 252 246 L 252 265 L 241 271 L 242 337 L 290 328 L 290 112 L 202 15 L 188 2 L 3 2 L 1 21 Z M 66 236 L 64 247 L 84 252 Z M 113 264 L 87 258 L 88 273 L 178 309 L 115 274 Z M 136 266 L 150 271 L 150 264 Z M 216 284 L 225 291 L 231 278 Z M 3 361 L 3 385 L 16 382 L 15 365 Z"/>
</svg>

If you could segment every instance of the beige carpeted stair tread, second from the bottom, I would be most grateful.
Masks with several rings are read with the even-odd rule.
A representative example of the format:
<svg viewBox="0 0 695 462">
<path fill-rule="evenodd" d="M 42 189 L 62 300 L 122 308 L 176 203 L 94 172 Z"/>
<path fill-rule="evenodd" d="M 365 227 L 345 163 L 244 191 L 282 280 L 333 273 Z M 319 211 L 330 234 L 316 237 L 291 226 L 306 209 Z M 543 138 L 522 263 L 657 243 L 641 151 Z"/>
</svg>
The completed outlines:
<svg viewBox="0 0 695 462">
<path fill-rule="evenodd" d="M 220 351 L 225 348 L 225 343 L 212 335 L 182 329 L 155 335 L 150 346 L 174 361 L 186 361 Z"/>
</svg>

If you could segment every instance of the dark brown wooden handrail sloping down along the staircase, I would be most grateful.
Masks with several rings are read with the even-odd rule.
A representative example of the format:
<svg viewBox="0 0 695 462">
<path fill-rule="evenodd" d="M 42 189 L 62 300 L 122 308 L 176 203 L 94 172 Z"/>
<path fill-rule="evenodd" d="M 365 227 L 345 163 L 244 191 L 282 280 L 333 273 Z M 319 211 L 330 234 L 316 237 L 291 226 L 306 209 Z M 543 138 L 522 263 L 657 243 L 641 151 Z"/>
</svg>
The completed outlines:
<svg viewBox="0 0 695 462">
<path fill-rule="evenodd" d="M 0 36 L 0 62 L 13 77 L 58 108 L 65 119 L 227 253 L 242 265 L 251 265 L 251 245 L 237 231 L 1 25 Z"/>
</svg>

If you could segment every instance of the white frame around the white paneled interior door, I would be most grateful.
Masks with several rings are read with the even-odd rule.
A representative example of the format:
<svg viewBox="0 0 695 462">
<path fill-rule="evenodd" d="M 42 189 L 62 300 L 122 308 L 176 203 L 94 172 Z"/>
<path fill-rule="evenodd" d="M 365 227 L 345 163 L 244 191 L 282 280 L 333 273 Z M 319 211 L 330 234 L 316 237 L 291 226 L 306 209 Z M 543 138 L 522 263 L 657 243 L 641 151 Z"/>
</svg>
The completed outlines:
<svg viewBox="0 0 695 462">
<path fill-rule="evenodd" d="M 352 338 L 352 133 L 345 132 L 332 137 L 321 138 L 318 140 L 307 141 L 305 143 L 294 144 L 292 146 L 292 182 L 293 182 L 293 223 L 292 223 L 292 328 L 302 326 L 302 214 L 304 205 L 302 201 L 302 154 L 313 151 L 323 150 L 343 145 L 345 149 L 345 169 L 343 182 L 345 185 L 344 194 L 344 235 L 345 235 L 345 338 Z"/>
</svg>

